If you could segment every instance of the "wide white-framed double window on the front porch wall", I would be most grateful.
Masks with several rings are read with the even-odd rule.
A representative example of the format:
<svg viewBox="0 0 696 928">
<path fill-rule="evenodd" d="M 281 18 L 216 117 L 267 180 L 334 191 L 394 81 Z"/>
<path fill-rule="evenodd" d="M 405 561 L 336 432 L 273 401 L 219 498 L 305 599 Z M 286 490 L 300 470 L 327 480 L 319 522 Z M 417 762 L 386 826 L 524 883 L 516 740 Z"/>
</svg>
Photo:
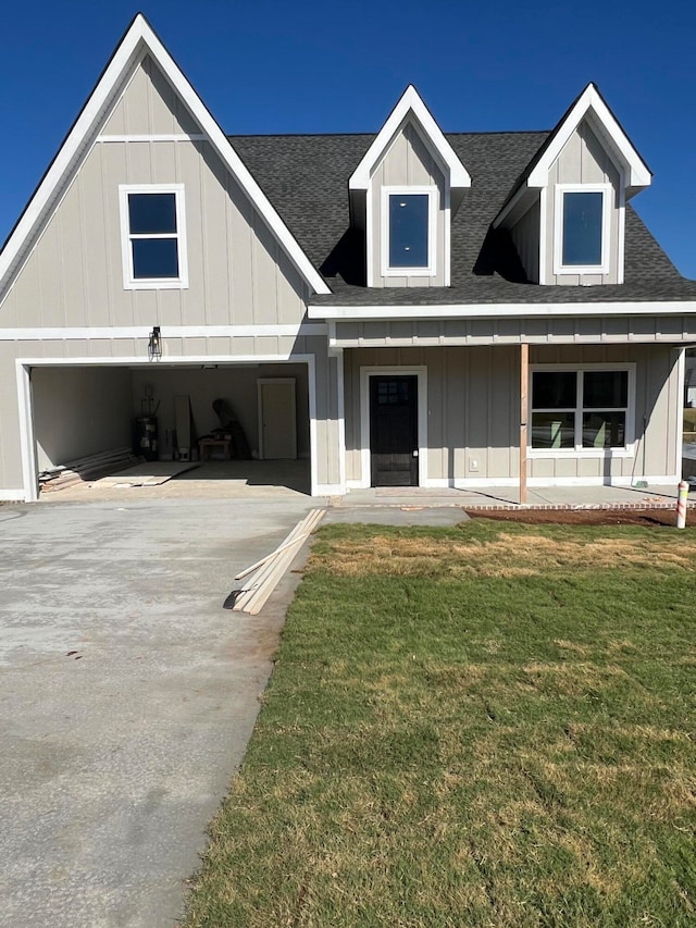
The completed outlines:
<svg viewBox="0 0 696 928">
<path fill-rule="evenodd" d="M 532 371 L 532 449 L 626 449 L 630 378 L 629 368 Z"/>
</svg>

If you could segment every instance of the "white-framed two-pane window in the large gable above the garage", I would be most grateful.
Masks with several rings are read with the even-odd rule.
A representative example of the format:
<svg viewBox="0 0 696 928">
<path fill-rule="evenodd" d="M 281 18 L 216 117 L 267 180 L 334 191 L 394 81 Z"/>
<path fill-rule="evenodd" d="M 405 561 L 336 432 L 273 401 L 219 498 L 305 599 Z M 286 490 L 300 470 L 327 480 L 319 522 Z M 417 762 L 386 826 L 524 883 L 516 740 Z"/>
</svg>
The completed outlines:
<svg viewBox="0 0 696 928">
<path fill-rule="evenodd" d="M 124 287 L 186 287 L 183 185 L 123 186 L 120 196 Z"/>
</svg>

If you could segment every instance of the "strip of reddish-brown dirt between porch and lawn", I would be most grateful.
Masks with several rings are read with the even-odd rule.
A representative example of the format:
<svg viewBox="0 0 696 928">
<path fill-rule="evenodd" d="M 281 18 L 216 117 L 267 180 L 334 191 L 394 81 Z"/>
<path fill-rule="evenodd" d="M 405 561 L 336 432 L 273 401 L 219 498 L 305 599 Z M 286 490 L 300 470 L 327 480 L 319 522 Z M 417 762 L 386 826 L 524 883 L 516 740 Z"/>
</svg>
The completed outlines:
<svg viewBox="0 0 696 928">
<path fill-rule="evenodd" d="M 529 525 L 674 525 L 674 509 L 464 509 L 472 519 L 523 522 Z M 696 524 L 689 510 L 686 524 Z"/>
</svg>

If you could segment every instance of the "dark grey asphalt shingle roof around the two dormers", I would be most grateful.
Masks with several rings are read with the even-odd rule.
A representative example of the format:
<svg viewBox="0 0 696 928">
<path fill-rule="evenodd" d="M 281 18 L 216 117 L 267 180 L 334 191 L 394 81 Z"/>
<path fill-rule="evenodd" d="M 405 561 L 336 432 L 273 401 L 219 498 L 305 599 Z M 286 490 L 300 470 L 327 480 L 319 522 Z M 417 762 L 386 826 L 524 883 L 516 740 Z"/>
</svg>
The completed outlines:
<svg viewBox="0 0 696 928">
<path fill-rule="evenodd" d="M 626 206 L 625 283 L 538 286 L 524 273 L 507 232 L 490 224 L 548 132 L 448 134 L 472 176 L 451 225 L 450 287 L 365 287 L 364 238 L 351 231 L 348 180 L 374 135 L 231 136 L 300 247 L 333 293 L 316 305 L 437 306 L 495 302 L 694 300 L 682 277 L 631 205 Z"/>
</svg>

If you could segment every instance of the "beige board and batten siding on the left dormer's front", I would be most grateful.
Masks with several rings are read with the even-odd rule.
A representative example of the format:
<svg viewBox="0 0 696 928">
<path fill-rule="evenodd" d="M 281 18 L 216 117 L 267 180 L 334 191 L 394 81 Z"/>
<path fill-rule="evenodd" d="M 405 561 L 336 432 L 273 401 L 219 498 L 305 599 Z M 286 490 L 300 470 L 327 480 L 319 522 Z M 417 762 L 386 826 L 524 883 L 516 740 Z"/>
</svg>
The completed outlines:
<svg viewBox="0 0 696 928">
<path fill-rule="evenodd" d="M 382 188 L 433 186 L 437 188 L 435 249 L 437 273 L 430 276 L 382 276 Z M 407 122 L 374 171 L 369 196 L 372 208 L 372 268 L 375 287 L 442 287 L 445 284 L 445 175 L 415 127 Z"/>
</svg>

